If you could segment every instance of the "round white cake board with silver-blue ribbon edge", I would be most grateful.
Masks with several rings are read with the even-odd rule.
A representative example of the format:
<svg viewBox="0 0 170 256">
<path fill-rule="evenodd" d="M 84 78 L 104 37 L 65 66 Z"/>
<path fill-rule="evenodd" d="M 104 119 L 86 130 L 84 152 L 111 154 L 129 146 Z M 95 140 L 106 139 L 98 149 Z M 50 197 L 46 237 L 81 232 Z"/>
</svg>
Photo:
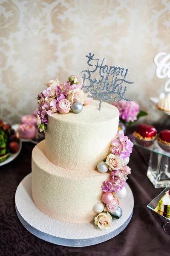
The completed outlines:
<svg viewBox="0 0 170 256">
<path fill-rule="evenodd" d="M 134 199 L 127 185 L 127 196 L 120 200 L 123 215 L 112 221 L 108 230 L 100 230 L 94 223 L 73 224 L 57 221 L 41 212 L 32 200 L 31 173 L 18 185 L 15 208 L 24 227 L 35 236 L 53 244 L 84 247 L 107 241 L 127 227 L 133 214 Z M 94 216 L 95 217 L 95 216 Z"/>
</svg>

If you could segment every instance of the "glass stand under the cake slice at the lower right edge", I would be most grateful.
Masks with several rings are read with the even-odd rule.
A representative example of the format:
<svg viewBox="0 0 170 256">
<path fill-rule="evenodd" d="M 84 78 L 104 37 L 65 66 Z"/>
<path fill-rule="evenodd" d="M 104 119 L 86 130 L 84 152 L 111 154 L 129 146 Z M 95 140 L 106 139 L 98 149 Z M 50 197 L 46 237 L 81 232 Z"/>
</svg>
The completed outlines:
<svg viewBox="0 0 170 256">
<path fill-rule="evenodd" d="M 166 216 L 164 216 L 163 212 L 158 212 L 158 210 L 157 210 L 159 200 L 165 195 L 165 192 L 167 192 L 168 190 L 170 190 L 170 188 L 164 189 L 156 198 L 153 199 L 153 201 L 151 201 L 147 205 L 147 207 L 150 208 L 151 210 L 153 210 L 154 212 L 157 212 L 159 215 L 161 215 L 162 217 L 165 218 L 163 228 L 164 228 L 165 233 L 167 233 L 167 235 L 170 236 L 170 218 L 166 218 Z"/>
</svg>

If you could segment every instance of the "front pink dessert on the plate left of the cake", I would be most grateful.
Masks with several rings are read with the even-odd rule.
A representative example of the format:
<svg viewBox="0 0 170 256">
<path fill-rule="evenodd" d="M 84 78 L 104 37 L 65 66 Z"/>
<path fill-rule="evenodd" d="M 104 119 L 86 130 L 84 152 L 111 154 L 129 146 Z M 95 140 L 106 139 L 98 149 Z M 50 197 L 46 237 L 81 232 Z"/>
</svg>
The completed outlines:
<svg viewBox="0 0 170 256">
<path fill-rule="evenodd" d="M 18 136 L 20 139 L 33 139 L 36 137 L 36 127 L 35 125 L 20 124 L 18 127 Z"/>
</svg>

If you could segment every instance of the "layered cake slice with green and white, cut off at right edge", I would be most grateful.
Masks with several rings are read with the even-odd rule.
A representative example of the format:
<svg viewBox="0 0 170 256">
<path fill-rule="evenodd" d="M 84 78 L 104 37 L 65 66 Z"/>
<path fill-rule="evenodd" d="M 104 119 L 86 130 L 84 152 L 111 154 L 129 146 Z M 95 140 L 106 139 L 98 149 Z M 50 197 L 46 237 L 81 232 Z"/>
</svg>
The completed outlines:
<svg viewBox="0 0 170 256">
<path fill-rule="evenodd" d="M 170 190 L 158 202 L 157 211 L 164 217 L 170 218 Z"/>
</svg>

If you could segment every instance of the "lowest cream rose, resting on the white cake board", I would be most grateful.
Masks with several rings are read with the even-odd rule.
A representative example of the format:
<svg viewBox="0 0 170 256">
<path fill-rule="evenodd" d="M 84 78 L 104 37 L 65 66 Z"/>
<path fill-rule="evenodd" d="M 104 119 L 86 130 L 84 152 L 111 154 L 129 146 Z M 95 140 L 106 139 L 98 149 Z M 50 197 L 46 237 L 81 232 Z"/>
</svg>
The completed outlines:
<svg viewBox="0 0 170 256">
<path fill-rule="evenodd" d="M 112 216 L 109 212 L 100 212 L 95 217 L 95 225 L 100 227 L 101 230 L 106 230 L 111 227 L 112 224 Z"/>
</svg>

